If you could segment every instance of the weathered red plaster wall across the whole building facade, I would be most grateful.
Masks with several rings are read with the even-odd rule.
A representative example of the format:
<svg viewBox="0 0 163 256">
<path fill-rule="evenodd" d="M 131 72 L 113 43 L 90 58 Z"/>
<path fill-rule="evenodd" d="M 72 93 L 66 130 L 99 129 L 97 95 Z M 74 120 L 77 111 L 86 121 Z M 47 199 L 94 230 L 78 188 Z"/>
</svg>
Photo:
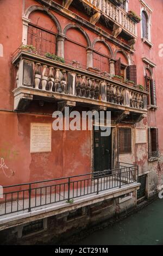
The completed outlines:
<svg viewBox="0 0 163 256">
<path fill-rule="evenodd" d="M 62 1 L 56 1 L 61 4 Z M 137 25 L 137 35 L 139 39 L 137 39 L 135 45 L 135 53 L 132 56 L 134 64 L 137 65 L 137 83 L 144 84 L 144 68 L 145 63 L 142 62 L 142 57 L 147 57 L 151 59 L 154 63 L 156 63 L 156 68 L 153 69 L 153 78 L 156 80 L 156 94 L 157 94 L 157 103 L 158 110 L 156 112 L 150 111 L 148 113 L 148 119 L 144 119 L 141 121 L 141 124 L 137 124 L 138 126 L 147 127 L 148 126 L 157 126 L 159 127 L 159 147 L 163 150 L 162 143 L 162 58 L 159 57 L 159 44 L 162 44 L 163 33 L 161 31 L 160 20 L 162 19 L 162 1 L 157 0 L 157 4 L 155 1 L 146 0 L 146 3 L 153 9 L 153 13 L 151 15 L 151 41 L 154 44 L 152 48 L 149 48 L 148 45 L 143 44 L 140 36 L 141 29 L 140 23 Z M 4 24 L 1 26 L 1 39 L 0 44 L 3 46 L 3 57 L 0 57 L 0 95 L 2 99 L 0 101 L 0 109 L 13 109 L 13 95 L 12 90 L 15 88 L 14 82 L 14 68 L 11 65 L 10 57 L 11 54 L 17 49 L 18 46 L 21 45 L 22 42 L 22 15 L 24 15 L 24 11 L 30 5 L 41 5 L 34 0 L 2 0 L 0 3 L 0 22 Z M 129 1 L 129 9 L 135 10 L 137 13 L 140 11 L 140 1 Z M 82 16 L 82 13 L 79 11 L 75 11 L 73 7 L 70 10 Z M 159 11 L 158 11 L 159 10 Z M 74 23 L 70 19 L 61 16 L 54 11 L 51 11 L 55 17 L 60 22 L 61 29 L 64 31 L 64 28 L 69 23 Z M 11 15 L 12 14 L 12 15 Z M 34 16 L 34 14 L 31 14 Z M 10 17 L 10 19 L 8 19 Z M 40 17 L 45 17 L 45 14 L 40 13 Z M 83 14 L 83 17 L 85 15 Z M 49 18 L 48 18 L 49 19 Z M 41 23 L 41 26 L 47 25 L 46 20 L 45 24 Z M 104 25 L 99 23 L 96 24 L 97 27 L 104 28 Z M 56 28 L 55 25 L 53 29 Z M 98 33 L 95 34 L 89 29 L 82 27 L 84 31 L 89 35 L 91 43 L 95 38 L 99 37 Z M 110 31 L 106 28 L 104 30 L 108 33 Z M 75 31 L 75 32 L 74 32 Z M 55 30 L 55 32 L 57 32 Z M 71 39 L 79 39 L 79 42 L 86 47 L 86 41 L 83 34 L 77 30 L 67 31 L 67 34 L 72 36 Z M 118 37 L 118 39 L 121 39 Z M 113 53 L 116 53 L 116 50 L 120 50 L 118 46 L 113 45 L 108 40 L 105 40 L 111 47 Z M 102 44 L 101 44 L 102 47 Z M 105 48 L 105 46 L 104 46 Z M 80 51 L 78 54 L 78 59 L 81 63 L 86 61 L 86 49 Z M 77 49 L 76 49 L 77 50 Z M 104 49 L 101 49 L 104 50 Z M 74 48 L 70 46 L 70 44 L 65 44 L 65 52 L 68 54 L 70 58 L 71 52 L 73 53 Z M 68 53 L 67 53 L 68 52 Z M 131 56 L 127 53 L 129 59 Z M 117 57 L 120 54 L 117 54 Z M 65 55 L 66 56 L 66 55 Z M 116 56 L 114 56 L 116 58 Z M 125 59 L 124 59 L 125 61 Z M 39 111 L 39 106 L 35 106 L 32 104 L 31 111 L 37 112 Z M 46 106 L 46 113 L 51 113 L 51 109 Z M 89 132 L 53 132 L 53 145 L 52 145 L 52 153 L 42 153 L 42 154 L 30 154 L 29 153 L 29 129 L 30 122 L 32 121 L 43 121 L 43 122 L 52 122 L 51 117 L 43 117 L 40 115 L 28 115 L 28 114 L 16 114 L 16 113 L 7 113 L 1 112 L 1 138 L 0 138 L 0 149 L 1 155 L 3 156 L 3 150 L 7 150 L 14 152 L 17 154 L 19 152 L 16 159 L 4 159 L 5 163 L 9 167 L 7 170 L 9 172 L 10 178 L 7 178 L 4 173 L 1 171 L 1 178 L 4 184 L 14 184 L 17 182 L 24 181 L 33 181 L 40 180 L 45 178 L 53 178 L 62 175 L 72 175 L 79 174 L 81 172 L 89 172 L 90 171 L 90 155 L 91 155 L 91 147 L 90 147 L 90 133 Z M 137 126 L 136 125 L 136 126 Z M 140 173 L 143 173 L 147 170 L 151 170 L 151 173 L 157 173 L 159 179 L 162 180 L 162 176 L 160 174 L 160 169 L 158 169 L 158 162 L 148 162 L 148 145 L 147 144 L 135 144 L 135 135 L 134 135 L 134 127 L 133 127 L 133 153 L 129 155 L 121 155 L 120 161 L 128 161 L 132 163 L 139 164 Z M 5 143 L 8 146 L 5 146 Z M 6 148 L 5 148 L 5 147 Z M 16 151 L 16 153 L 15 153 Z M 6 154 L 6 153 L 5 153 Z M 13 153 L 12 153 L 13 154 Z M 2 157 L 1 156 L 1 157 Z M 25 156 L 25 157 L 24 157 Z M 83 165 L 84 163 L 84 165 Z M 160 166 L 162 166 L 162 162 L 160 160 Z M 162 167 L 160 167 L 162 168 Z M 14 175 L 13 172 L 15 173 Z M 155 176 L 154 174 L 154 176 Z M 152 177 L 152 174 L 151 174 Z M 161 182 L 161 181 L 160 181 Z"/>
</svg>

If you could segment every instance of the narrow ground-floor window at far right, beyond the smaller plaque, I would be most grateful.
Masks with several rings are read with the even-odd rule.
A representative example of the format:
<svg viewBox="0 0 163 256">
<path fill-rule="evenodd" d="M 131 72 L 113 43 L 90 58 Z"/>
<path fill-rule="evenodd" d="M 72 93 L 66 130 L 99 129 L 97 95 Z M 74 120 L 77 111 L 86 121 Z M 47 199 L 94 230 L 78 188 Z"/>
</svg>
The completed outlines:
<svg viewBox="0 0 163 256">
<path fill-rule="evenodd" d="M 158 128 L 148 129 L 148 155 L 149 159 L 159 157 Z"/>
</svg>

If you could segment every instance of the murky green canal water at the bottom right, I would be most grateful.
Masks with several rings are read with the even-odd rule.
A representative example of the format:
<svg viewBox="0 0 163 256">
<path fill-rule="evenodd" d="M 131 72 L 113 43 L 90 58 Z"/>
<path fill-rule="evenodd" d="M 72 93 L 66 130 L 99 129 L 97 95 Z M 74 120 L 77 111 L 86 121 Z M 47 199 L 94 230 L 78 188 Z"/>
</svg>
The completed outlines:
<svg viewBox="0 0 163 256">
<path fill-rule="evenodd" d="M 110 227 L 95 231 L 78 245 L 163 245 L 163 199 Z"/>
</svg>

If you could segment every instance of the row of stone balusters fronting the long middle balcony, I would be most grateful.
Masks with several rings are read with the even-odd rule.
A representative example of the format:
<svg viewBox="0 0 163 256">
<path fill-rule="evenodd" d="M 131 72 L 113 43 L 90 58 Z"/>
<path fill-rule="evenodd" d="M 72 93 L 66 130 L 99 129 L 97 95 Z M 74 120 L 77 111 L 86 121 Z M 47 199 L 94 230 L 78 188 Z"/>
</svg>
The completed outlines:
<svg viewBox="0 0 163 256">
<path fill-rule="evenodd" d="M 93 104 L 97 101 L 109 102 L 112 105 L 147 109 L 146 92 L 112 80 L 107 74 L 93 74 L 45 57 L 37 56 L 38 58 L 40 62 L 35 58 L 20 59 L 17 64 L 17 87 L 28 87 L 37 92 L 51 92 L 63 96 L 71 95 L 75 97 L 75 101 L 80 98 L 89 99 L 90 103 L 93 100 Z M 41 61 L 41 58 L 46 59 L 48 64 Z"/>
</svg>

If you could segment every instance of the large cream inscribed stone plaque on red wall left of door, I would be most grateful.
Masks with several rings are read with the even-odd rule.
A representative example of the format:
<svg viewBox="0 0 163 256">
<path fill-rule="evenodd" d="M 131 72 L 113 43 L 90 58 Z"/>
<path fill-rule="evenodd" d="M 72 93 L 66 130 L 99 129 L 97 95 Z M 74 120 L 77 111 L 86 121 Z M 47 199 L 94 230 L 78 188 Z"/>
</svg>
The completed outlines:
<svg viewBox="0 0 163 256">
<path fill-rule="evenodd" d="M 30 153 L 52 151 L 52 124 L 30 124 Z"/>
</svg>

